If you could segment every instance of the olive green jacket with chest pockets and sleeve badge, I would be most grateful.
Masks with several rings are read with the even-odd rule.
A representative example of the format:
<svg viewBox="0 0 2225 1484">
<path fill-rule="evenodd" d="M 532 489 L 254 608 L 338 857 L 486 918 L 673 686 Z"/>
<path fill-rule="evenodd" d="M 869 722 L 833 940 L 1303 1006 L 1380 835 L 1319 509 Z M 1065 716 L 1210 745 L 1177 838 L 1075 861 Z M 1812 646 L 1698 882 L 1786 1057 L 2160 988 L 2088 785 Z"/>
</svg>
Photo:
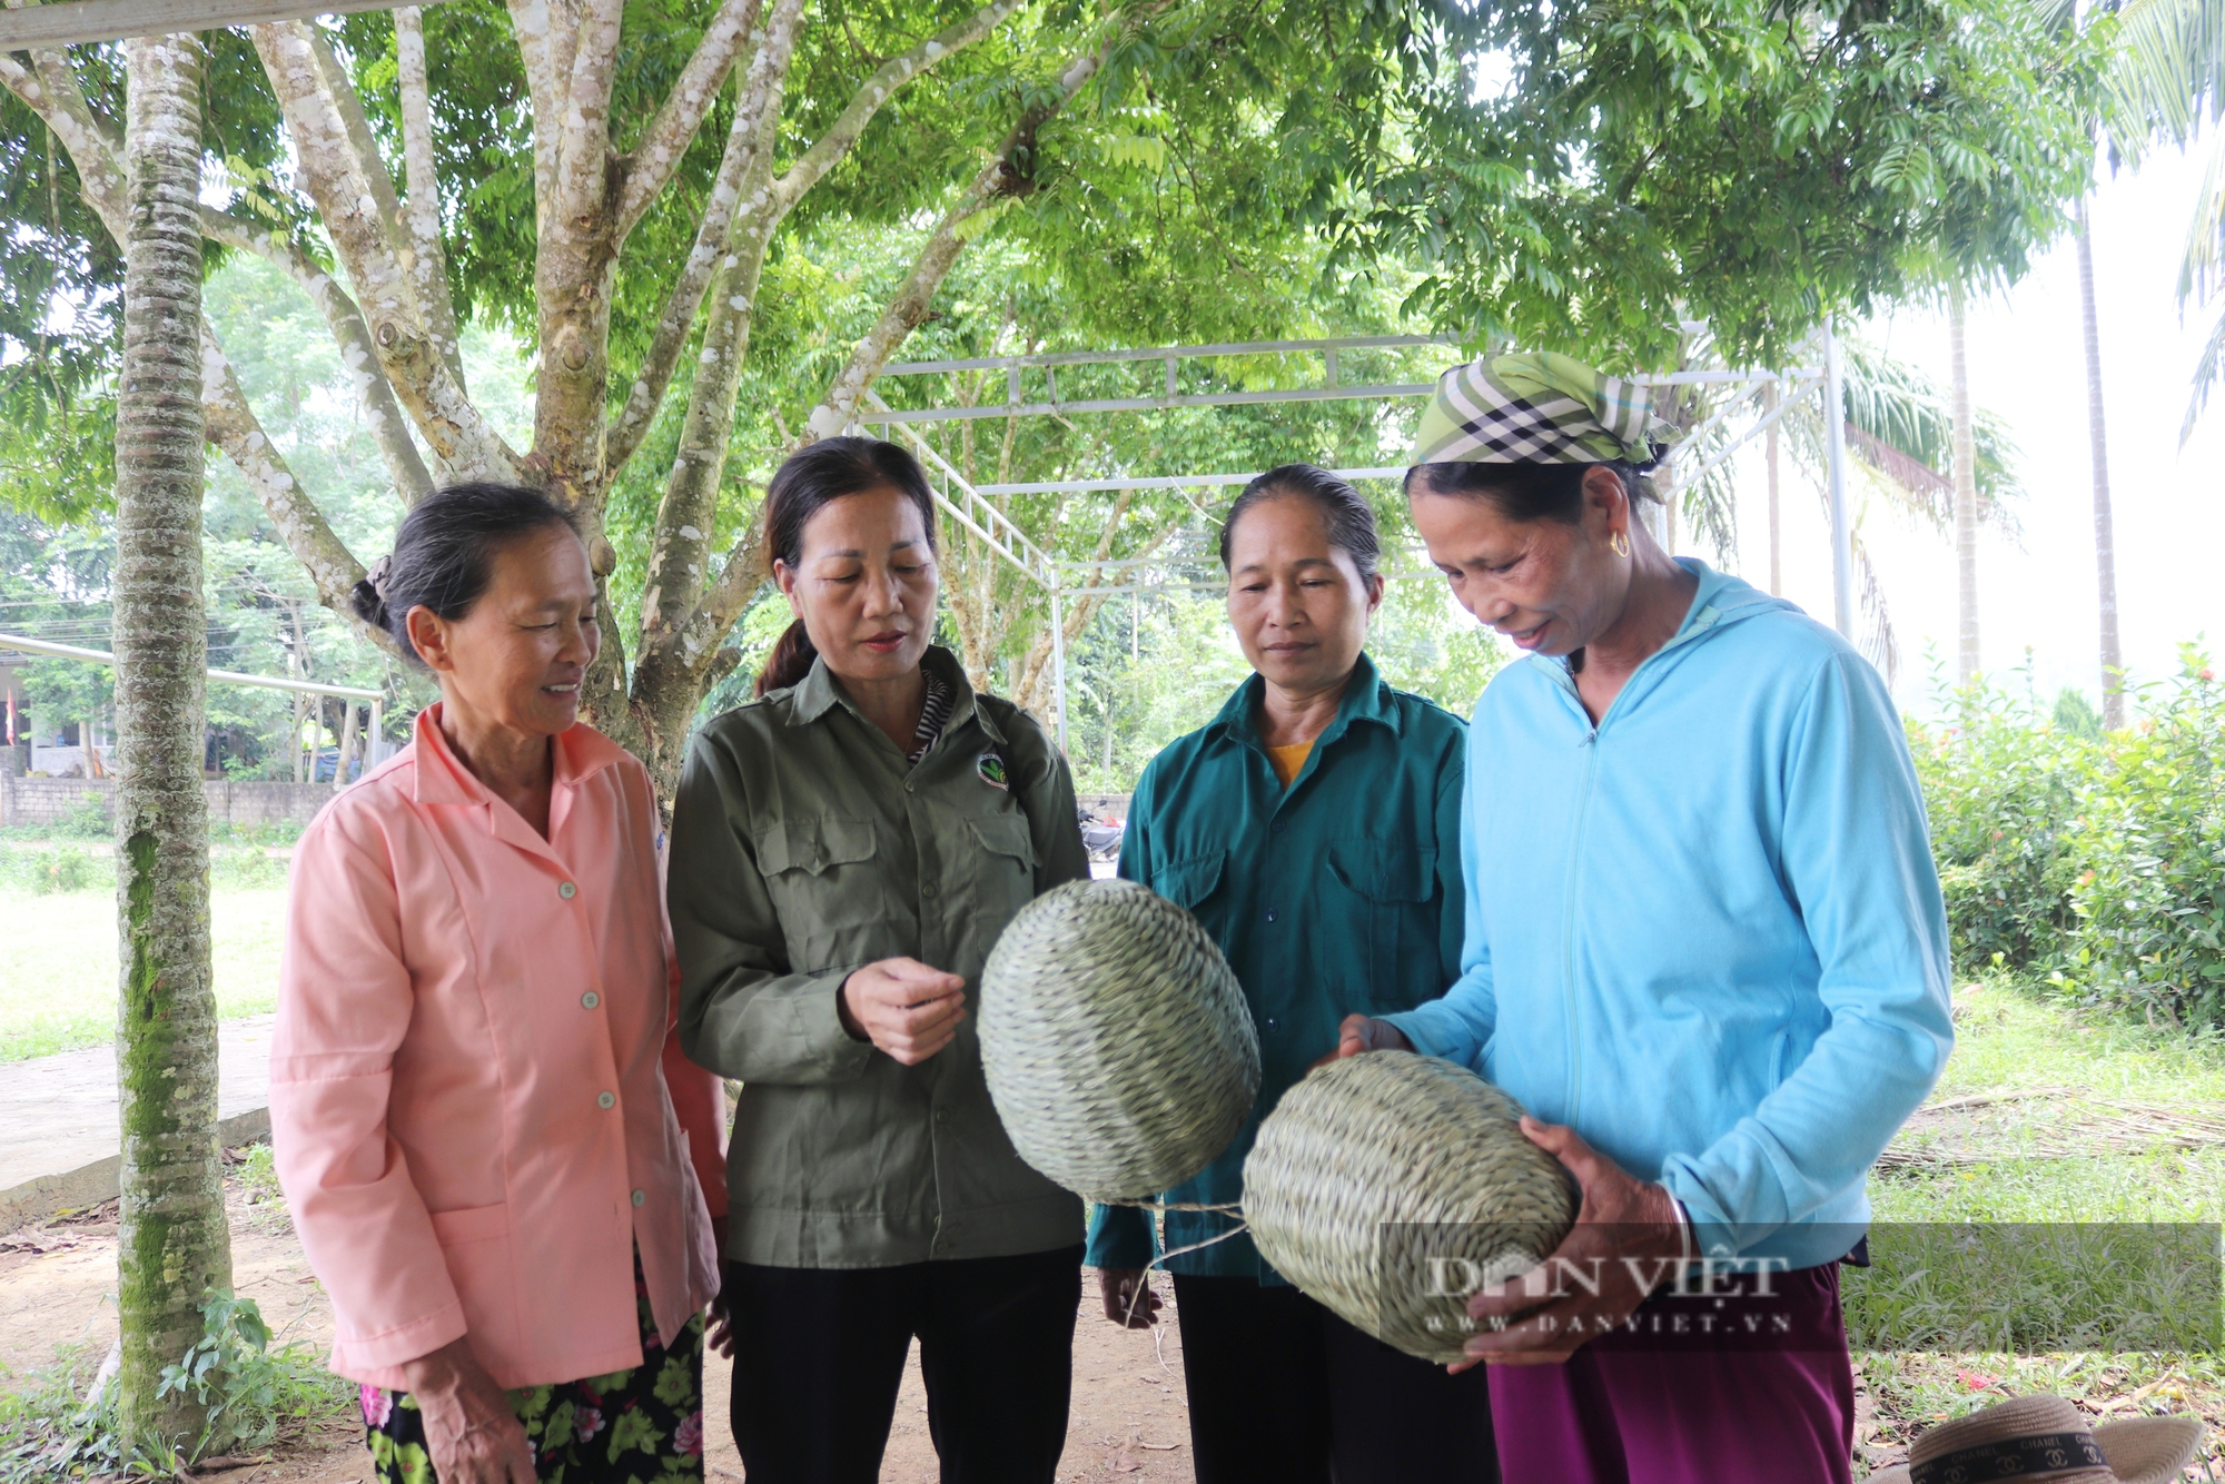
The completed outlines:
<svg viewBox="0 0 2225 1484">
<path fill-rule="evenodd" d="M 1081 1241 L 1081 1201 L 1012 1152 L 981 1079 L 981 966 L 1012 914 L 1088 877 L 1075 785 L 1044 728 L 955 692 L 919 765 L 825 663 L 703 725 L 672 805 L 681 1046 L 743 1081 L 728 1146 L 736 1262 L 881 1268 Z M 834 1010 L 850 970 L 966 977 L 957 1039 L 901 1066 Z"/>
</svg>

